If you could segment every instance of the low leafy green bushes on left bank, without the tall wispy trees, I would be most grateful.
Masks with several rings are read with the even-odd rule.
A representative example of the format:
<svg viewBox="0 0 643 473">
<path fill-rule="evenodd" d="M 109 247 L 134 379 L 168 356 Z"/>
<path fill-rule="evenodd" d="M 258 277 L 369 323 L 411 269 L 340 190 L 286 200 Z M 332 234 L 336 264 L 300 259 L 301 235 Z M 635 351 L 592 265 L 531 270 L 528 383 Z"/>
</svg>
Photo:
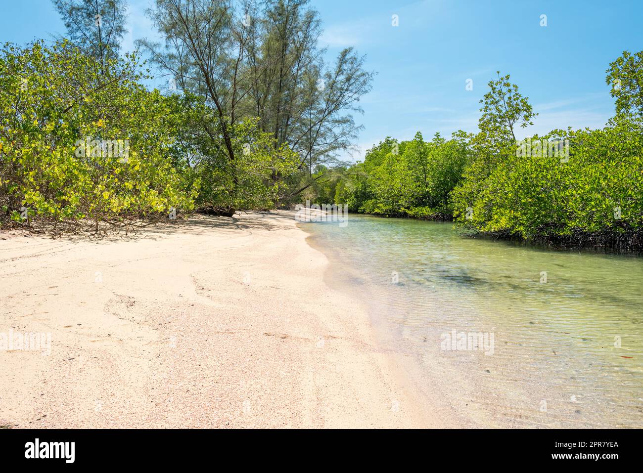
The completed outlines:
<svg viewBox="0 0 643 473">
<path fill-rule="evenodd" d="M 297 159 L 256 121 L 230 125 L 190 94 L 140 84 L 135 55 L 68 41 L 0 50 L 0 224 L 57 232 L 206 208 L 272 206 Z M 103 225 L 104 226 L 104 225 Z"/>
</svg>

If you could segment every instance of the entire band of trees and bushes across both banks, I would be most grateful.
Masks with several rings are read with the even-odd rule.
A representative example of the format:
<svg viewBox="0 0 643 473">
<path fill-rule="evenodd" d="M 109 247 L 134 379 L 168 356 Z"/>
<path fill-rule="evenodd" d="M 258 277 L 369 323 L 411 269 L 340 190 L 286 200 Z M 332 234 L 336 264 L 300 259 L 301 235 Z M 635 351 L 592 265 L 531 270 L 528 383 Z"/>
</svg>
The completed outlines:
<svg viewBox="0 0 643 473">
<path fill-rule="evenodd" d="M 100 232 L 311 200 L 471 234 L 643 247 L 643 52 L 610 64 L 603 129 L 525 145 L 516 132 L 537 114 L 498 73 L 476 134 L 386 138 L 349 166 L 338 156 L 373 74 L 350 48 L 325 64 L 307 0 L 156 0 L 163 40 L 128 54 L 125 0 L 53 3 L 66 37 L 0 49 L 3 228 Z M 145 55 L 164 93 L 144 85 Z"/>
</svg>

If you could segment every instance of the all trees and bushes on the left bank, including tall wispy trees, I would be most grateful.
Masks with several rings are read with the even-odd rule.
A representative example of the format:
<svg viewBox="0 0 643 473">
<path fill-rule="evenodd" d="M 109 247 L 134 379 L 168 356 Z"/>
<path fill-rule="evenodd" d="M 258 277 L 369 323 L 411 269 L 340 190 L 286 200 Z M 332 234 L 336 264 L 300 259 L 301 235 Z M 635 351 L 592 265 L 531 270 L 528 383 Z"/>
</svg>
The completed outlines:
<svg viewBox="0 0 643 473">
<path fill-rule="evenodd" d="M 123 54 L 125 0 L 53 0 L 68 34 L 0 49 L 0 226 L 129 228 L 296 199 L 359 126 L 372 73 L 325 64 L 307 0 L 157 0 L 164 41 Z M 149 90 L 149 56 L 165 93 Z"/>
</svg>

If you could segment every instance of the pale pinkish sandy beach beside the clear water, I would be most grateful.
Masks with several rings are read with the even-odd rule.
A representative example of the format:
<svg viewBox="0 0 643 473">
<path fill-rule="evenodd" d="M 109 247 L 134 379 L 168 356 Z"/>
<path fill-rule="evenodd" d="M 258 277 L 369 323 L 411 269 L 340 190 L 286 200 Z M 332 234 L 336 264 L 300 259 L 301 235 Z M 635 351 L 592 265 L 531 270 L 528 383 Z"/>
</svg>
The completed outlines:
<svg viewBox="0 0 643 473">
<path fill-rule="evenodd" d="M 0 424 L 447 426 L 306 237 L 284 211 L 133 237 L 0 233 L 0 333 L 51 335 L 0 350 Z"/>
</svg>

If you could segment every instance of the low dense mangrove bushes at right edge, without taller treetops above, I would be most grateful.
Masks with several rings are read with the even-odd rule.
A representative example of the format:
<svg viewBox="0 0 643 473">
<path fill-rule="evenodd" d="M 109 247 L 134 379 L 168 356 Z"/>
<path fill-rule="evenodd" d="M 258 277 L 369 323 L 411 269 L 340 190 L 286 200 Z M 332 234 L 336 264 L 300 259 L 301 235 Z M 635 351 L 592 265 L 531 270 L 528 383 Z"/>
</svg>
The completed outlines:
<svg viewBox="0 0 643 473">
<path fill-rule="evenodd" d="M 559 130 L 541 140 L 568 143 L 568 154 L 509 154 L 476 181 L 475 197 L 454 193 L 458 221 L 502 237 L 640 247 L 641 122 L 618 116 L 602 130 Z"/>
</svg>

